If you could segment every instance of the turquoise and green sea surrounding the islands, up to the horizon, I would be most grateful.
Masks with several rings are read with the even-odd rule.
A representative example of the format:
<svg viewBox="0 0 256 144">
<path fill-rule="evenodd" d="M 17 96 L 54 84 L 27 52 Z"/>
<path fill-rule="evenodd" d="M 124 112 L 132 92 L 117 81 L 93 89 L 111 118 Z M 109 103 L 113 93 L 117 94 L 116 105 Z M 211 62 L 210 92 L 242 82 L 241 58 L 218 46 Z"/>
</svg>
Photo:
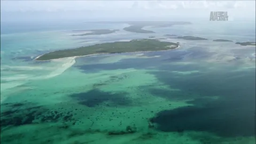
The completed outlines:
<svg viewBox="0 0 256 144">
<path fill-rule="evenodd" d="M 255 46 L 212 42 L 255 41 L 255 23 L 145 28 L 155 34 L 125 26 L 1 23 L 1 143 L 255 144 Z M 88 29 L 120 31 L 71 36 Z M 165 34 L 209 40 L 168 38 L 180 47 L 33 61 L 59 49 Z M 128 126 L 135 132 L 127 134 Z"/>
</svg>

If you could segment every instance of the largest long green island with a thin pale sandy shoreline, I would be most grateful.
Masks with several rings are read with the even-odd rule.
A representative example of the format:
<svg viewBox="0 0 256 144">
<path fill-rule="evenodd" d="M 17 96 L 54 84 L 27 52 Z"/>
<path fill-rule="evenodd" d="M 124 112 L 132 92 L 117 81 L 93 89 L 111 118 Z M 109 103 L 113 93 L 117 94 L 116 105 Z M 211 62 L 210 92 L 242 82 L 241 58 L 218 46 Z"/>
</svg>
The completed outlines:
<svg viewBox="0 0 256 144">
<path fill-rule="evenodd" d="M 162 42 L 156 39 L 134 39 L 128 42 L 113 42 L 90 46 L 83 46 L 76 49 L 59 50 L 43 54 L 36 58 L 38 61 L 47 61 L 59 58 L 85 56 L 100 53 L 128 53 L 144 51 L 161 51 L 175 49 L 177 43 Z"/>
</svg>

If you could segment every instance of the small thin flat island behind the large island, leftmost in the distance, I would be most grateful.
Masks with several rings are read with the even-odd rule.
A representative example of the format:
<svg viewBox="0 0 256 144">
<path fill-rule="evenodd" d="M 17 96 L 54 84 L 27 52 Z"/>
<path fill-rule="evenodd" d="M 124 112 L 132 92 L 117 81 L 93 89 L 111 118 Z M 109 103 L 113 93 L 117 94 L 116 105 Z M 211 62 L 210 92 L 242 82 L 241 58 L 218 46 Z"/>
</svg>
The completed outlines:
<svg viewBox="0 0 256 144">
<path fill-rule="evenodd" d="M 73 31 L 77 31 L 77 32 L 88 32 L 88 33 L 84 33 L 84 34 L 78 34 L 78 35 L 72 35 L 72 36 L 89 36 L 89 35 L 102 35 L 102 34 L 110 34 L 110 33 L 114 33 L 118 30 L 73 30 Z"/>
</svg>

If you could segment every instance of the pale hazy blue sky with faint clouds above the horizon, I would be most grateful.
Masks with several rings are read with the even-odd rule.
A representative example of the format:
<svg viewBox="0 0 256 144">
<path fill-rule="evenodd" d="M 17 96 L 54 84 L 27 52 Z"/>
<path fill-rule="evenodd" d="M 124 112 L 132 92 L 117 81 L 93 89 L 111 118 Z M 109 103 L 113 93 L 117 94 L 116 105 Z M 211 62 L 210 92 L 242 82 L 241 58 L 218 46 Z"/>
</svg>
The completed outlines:
<svg viewBox="0 0 256 144">
<path fill-rule="evenodd" d="M 209 20 L 227 11 L 230 20 L 255 21 L 255 0 L 1 0 L 8 21 L 186 21 Z"/>
</svg>

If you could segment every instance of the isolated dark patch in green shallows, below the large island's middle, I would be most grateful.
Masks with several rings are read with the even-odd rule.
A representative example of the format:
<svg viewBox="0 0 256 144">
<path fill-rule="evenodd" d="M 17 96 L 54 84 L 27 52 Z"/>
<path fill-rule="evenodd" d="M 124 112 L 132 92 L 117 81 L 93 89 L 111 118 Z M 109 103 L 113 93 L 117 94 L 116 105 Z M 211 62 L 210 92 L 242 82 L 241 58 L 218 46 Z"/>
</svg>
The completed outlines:
<svg viewBox="0 0 256 144">
<path fill-rule="evenodd" d="M 126 92 L 112 93 L 94 89 L 87 92 L 72 94 L 70 97 L 77 99 L 79 104 L 88 107 L 99 106 L 101 103 L 107 101 L 113 103 L 115 106 L 129 106 L 132 103 L 132 99 L 126 97 L 126 94 Z"/>
</svg>

